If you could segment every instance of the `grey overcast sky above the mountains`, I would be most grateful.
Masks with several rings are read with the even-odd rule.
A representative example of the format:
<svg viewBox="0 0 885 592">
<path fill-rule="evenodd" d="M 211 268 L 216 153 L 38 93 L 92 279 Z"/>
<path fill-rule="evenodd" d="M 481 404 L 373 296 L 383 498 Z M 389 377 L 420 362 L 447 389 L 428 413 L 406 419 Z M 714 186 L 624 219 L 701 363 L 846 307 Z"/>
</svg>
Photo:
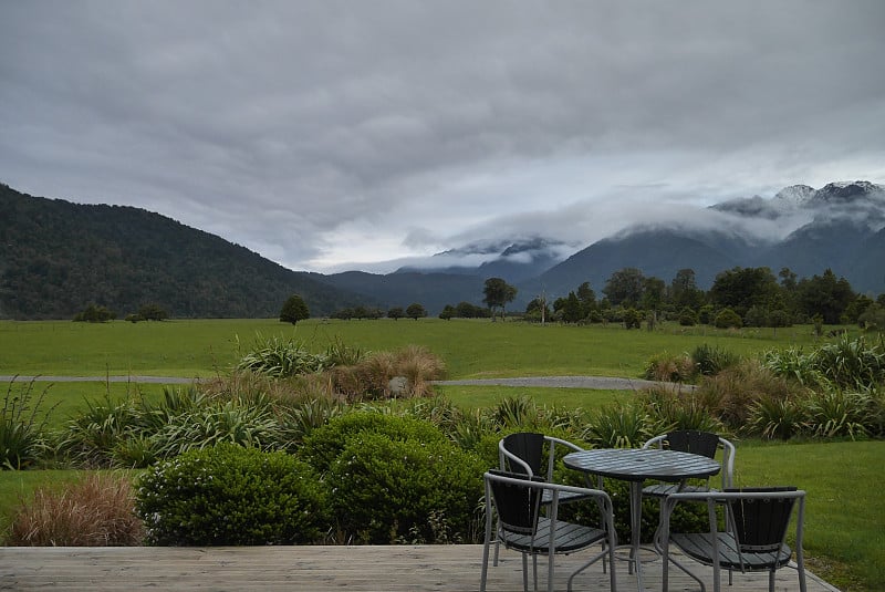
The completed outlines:
<svg viewBox="0 0 885 592">
<path fill-rule="evenodd" d="M 885 2 L 0 0 L 0 181 L 295 270 L 885 183 Z"/>
</svg>

